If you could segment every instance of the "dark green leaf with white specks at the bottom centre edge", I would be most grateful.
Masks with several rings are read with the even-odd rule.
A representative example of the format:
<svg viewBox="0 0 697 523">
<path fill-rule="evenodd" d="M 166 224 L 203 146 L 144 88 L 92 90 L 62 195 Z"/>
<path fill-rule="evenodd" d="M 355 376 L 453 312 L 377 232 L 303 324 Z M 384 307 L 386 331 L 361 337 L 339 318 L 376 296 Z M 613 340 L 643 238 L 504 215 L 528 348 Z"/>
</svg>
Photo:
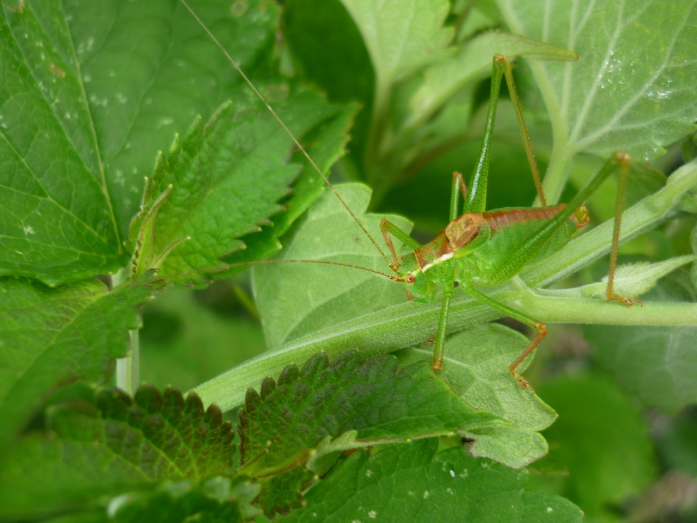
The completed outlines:
<svg viewBox="0 0 697 523">
<path fill-rule="evenodd" d="M 569 501 L 526 490 L 526 471 L 437 448 L 427 439 L 353 453 L 281 521 L 581 522 Z"/>
</svg>

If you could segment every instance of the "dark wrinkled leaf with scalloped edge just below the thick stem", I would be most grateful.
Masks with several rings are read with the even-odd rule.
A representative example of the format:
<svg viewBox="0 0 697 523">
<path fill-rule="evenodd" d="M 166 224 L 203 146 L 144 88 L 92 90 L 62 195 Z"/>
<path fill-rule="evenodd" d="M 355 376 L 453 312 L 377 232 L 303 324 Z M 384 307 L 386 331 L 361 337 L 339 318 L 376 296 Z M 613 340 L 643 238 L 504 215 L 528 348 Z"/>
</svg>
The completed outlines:
<svg viewBox="0 0 697 523">
<path fill-rule="evenodd" d="M 329 363 L 318 354 L 302 370 L 266 379 L 261 395 L 250 389 L 240 452 L 246 473 L 267 476 L 328 452 L 499 423 L 466 406 L 423 362 L 397 370 L 390 356 L 361 362 L 348 352 Z"/>
</svg>

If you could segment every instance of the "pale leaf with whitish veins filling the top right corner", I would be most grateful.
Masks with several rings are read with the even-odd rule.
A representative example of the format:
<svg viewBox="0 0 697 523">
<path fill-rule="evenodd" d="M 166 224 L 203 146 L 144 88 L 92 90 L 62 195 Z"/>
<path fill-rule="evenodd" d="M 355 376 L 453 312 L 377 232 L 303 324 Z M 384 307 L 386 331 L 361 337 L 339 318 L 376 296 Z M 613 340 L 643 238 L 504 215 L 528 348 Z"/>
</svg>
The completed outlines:
<svg viewBox="0 0 697 523">
<path fill-rule="evenodd" d="M 511 31 L 579 54 L 565 66 L 530 63 L 549 108 L 555 161 L 615 149 L 649 160 L 694 129 L 694 1 L 498 4 Z M 560 185 L 546 188 L 558 200 Z"/>
</svg>

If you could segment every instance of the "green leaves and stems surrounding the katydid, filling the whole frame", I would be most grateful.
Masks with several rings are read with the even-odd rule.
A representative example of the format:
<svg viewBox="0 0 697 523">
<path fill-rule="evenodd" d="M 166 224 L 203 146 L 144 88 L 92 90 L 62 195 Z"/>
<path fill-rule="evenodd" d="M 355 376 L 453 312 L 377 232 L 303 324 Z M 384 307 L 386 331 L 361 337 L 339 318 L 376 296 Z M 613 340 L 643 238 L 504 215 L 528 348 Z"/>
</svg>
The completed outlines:
<svg viewBox="0 0 697 523">
<path fill-rule="evenodd" d="M 181 0 L 6 2 L 0 520 L 694 514 L 697 268 L 681 266 L 697 243 L 697 3 L 191 3 L 317 168 L 353 183 L 325 190 Z M 424 360 L 438 301 L 322 263 L 391 272 L 339 197 L 381 248 L 383 218 L 414 220 L 423 241 L 443 228 L 450 172 L 478 157 L 496 53 L 519 57 L 549 202 L 615 149 L 654 162 L 630 174 L 622 236 L 649 234 L 618 268 L 643 306 L 598 296 L 611 222 L 484 289 L 548 324 L 594 324 L 583 342 L 553 332 L 523 362 L 537 394 L 507 370 L 528 338 L 488 324 L 496 311 L 456 291 L 461 332 L 436 374 Z M 511 109 L 503 96 L 489 201 L 530 206 L 531 193 L 516 201 L 532 183 Z M 686 136 L 681 165 L 671 144 Z M 592 216 L 613 215 L 613 191 Z M 235 273 L 279 251 L 284 263 L 254 268 L 252 302 Z M 255 358 L 261 333 L 231 319 L 233 295 L 261 319 Z M 102 387 L 143 323 L 132 367 L 195 394 Z M 222 416 L 237 407 L 236 438 Z M 675 477 L 687 494 L 666 501 Z"/>
</svg>

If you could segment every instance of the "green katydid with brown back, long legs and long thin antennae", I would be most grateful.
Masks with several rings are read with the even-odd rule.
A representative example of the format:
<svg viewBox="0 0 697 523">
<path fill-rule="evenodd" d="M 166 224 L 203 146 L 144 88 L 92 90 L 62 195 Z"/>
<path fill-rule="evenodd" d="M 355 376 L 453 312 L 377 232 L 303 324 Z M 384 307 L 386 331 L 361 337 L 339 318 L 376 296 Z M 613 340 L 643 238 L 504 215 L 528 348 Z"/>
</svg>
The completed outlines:
<svg viewBox="0 0 697 523">
<path fill-rule="evenodd" d="M 518 379 L 523 388 L 526 388 L 528 386 L 528 381 L 516 371 L 516 367 L 535 349 L 535 347 L 537 347 L 537 344 L 539 344 L 542 338 L 544 338 L 546 335 L 546 326 L 541 321 L 533 319 L 528 314 L 491 298 L 491 296 L 480 290 L 480 287 L 503 283 L 519 273 L 521 268 L 526 266 L 526 264 L 548 256 L 565 245 L 574 232 L 576 232 L 576 229 L 588 223 L 588 211 L 583 207 L 585 199 L 587 199 L 612 172 L 619 171 L 620 190 L 618 190 L 618 202 L 615 208 L 615 230 L 613 232 L 613 247 L 606 297 L 608 300 L 620 301 L 620 303 L 624 303 L 625 305 L 641 303 L 634 298 L 625 298 L 613 292 L 613 277 L 620 232 L 622 195 L 627 181 L 627 173 L 630 164 L 629 156 L 621 151 L 616 152 L 612 158 L 605 162 L 598 172 L 590 177 L 585 186 L 581 188 L 576 197 L 574 197 L 568 205 L 558 204 L 556 206 L 544 206 L 545 199 L 535 165 L 533 149 L 530 144 L 530 138 L 513 83 L 510 61 L 505 56 L 500 54 L 493 56 L 489 111 L 487 113 L 484 135 L 482 137 L 480 157 L 470 178 L 468 184 L 469 190 L 464 183 L 462 175 L 454 173 L 450 197 L 450 222 L 445 229 L 443 229 L 443 232 L 439 233 L 432 241 L 424 245 L 420 245 L 392 223 L 383 220 L 381 222 L 381 230 L 391 254 L 390 259 L 390 257 L 385 255 L 385 252 L 383 252 L 372 235 L 369 234 L 365 226 L 362 225 L 358 216 L 356 216 L 346 202 L 344 202 L 344 199 L 342 199 L 321 169 L 319 169 L 314 160 L 312 160 L 307 151 L 305 151 L 300 142 L 298 142 L 298 139 L 296 139 L 293 133 L 285 126 L 274 109 L 270 107 L 266 99 L 254 87 L 250 79 L 247 78 L 243 70 L 231 59 L 231 56 L 227 54 L 222 45 L 217 42 L 215 36 L 208 31 L 201 20 L 199 20 L 195 13 L 187 6 L 185 0 L 181 1 L 186 8 L 190 10 L 192 15 L 197 18 L 199 24 L 201 24 L 210 38 L 212 38 L 222 52 L 226 54 L 233 67 L 236 68 L 245 82 L 249 84 L 250 88 L 254 91 L 256 96 L 259 97 L 261 102 L 266 105 L 266 108 L 273 114 L 275 119 L 277 119 L 279 125 L 289 134 L 294 144 L 298 147 L 298 150 L 307 158 L 307 161 L 312 165 L 313 169 L 316 170 L 325 181 L 328 188 L 334 192 L 339 202 L 342 203 L 346 211 L 348 211 L 353 220 L 355 220 L 360 229 L 362 229 L 362 232 L 370 239 L 376 250 L 381 254 L 383 259 L 385 259 L 393 274 L 332 261 L 282 260 L 259 261 L 247 264 L 308 261 L 311 263 L 351 266 L 385 275 L 393 281 L 402 282 L 406 287 L 408 297 L 415 301 L 434 300 L 436 296 L 436 287 L 441 286 L 443 288 L 443 303 L 441 305 L 441 314 L 435 338 L 436 347 L 431 363 L 431 367 L 436 371 L 441 370 L 443 367 L 445 337 L 447 334 L 447 316 L 450 308 L 450 300 L 454 293 L 454 285 L 457 282 L 459 287 L 462 287 L 462 289 L 473 298 L 503 312 L 503 314 L 507 316 L 527 324 L 537 331 L 537 335 L 535 335 L 535 338 L 533 338 L 528 347 L 519 358 L 516 358 L 516 361 L 509 366 L 511 374 Z M 523 136 L 523 143 L 526 147 L 530 169 L 533 172 L 533 179 L 537 187 L 538 197 L 543 205 L 540 208 L 484 211 L 487 196 L 491 137 L 494 120 L 496 119 L 496 107 L 502 77 L 506 78 L 507 86 L 514 104 L 516 118 L 521 129 L 521 135 Z M 459 214 L 460 194 L 464 199 L 464 213 L 461 215 Z M 399 257 L 392 244 L 392 236 L 395 236 L 395 238 L 410 248 L 411 252 Z"/>
</svg>

